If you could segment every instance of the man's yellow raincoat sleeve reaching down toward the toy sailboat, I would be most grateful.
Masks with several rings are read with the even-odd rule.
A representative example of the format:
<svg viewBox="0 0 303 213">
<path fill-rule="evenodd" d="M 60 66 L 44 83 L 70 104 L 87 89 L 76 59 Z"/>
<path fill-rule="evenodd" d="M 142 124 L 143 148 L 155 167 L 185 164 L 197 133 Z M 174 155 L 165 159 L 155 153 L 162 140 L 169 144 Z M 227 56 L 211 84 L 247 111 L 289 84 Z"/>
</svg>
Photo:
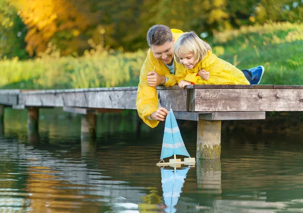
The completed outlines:
<svg viewBox="0 0 303 213">
<path fill-rule="evenodd" d="M 154 128 L 159 124 L 159 121 L 157 120 L 147 119 L 147 117 L 151 113 L 158 110 L 159 105 L 156 88 L 148 86 L 147 83 L 147 73 L 149 71 L 152 71 L 153 69 L 154 66 L 151 65 L 149 54 L 147 54 L 147 57 L 140 72 L 140 82 L 137 91 L 136 108 L 139 117 L 143 120 L 145 124 L 147 124 L 151 128 Z"/>
</svg>

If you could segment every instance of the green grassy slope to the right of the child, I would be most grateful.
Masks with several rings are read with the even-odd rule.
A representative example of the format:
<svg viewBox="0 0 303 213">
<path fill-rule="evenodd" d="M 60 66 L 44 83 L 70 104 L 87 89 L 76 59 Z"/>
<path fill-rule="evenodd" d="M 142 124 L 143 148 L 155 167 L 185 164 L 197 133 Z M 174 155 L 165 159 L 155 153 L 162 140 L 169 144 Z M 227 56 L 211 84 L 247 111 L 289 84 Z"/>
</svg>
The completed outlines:
<svg viewBox="0 0 303 213">
<path fill-rule="evenodd" d="M 262 84 L 303 84 L 303 23 L 243 26 L 215 34 L 210 43 L 214 49 L 223 47 L 220 58 L 239 69 L 263 65 L 266 73 Z"/>
</svg>

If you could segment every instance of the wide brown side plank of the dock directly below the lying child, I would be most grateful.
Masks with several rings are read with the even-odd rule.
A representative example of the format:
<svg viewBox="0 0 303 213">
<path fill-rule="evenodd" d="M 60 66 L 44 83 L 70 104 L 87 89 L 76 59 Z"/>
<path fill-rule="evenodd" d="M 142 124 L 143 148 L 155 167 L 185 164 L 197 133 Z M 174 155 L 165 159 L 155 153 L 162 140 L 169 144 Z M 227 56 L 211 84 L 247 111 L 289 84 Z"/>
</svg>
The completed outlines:
<svg viewBox="0 0 303 213">
<path fill-rule="evenodd" d="M 195 89 L 190 112 L 303 111 L 300 89 Z"/>
</svg>

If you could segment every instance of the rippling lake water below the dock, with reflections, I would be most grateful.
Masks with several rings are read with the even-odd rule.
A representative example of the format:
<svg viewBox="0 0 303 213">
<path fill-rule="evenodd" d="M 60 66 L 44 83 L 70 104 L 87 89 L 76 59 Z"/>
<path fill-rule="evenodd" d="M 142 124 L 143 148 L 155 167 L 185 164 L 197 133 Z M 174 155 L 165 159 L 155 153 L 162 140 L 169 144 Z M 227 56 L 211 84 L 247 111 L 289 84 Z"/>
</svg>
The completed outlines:
<svg viewBox="0 0 303 213">
<path fill-rule="evenodd" d="M 41 110 L 29 142 L 26 118 L 6 109 L 0 212 L 303 212 L 300 136 L 222 132 L 221 159 L 160 168 L 164 126 L 139 135 L 133 113 L 98 116 L 96 141 L 80 117 Z M 195 156 L 196 129 L 179 127 Z"/>
</svg>

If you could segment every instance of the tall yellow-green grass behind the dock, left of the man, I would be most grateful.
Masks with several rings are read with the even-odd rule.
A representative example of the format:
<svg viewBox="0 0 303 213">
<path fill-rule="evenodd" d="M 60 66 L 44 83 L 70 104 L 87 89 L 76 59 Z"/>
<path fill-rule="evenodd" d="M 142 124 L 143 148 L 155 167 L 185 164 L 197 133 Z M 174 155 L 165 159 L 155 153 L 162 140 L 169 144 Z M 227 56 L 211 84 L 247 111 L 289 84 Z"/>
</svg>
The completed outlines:
<svg viewBox="0 0 303 213">
<path fill-rule="evenodd" d="M 55 45 L 35 60 L 0 61 L 0 87 L 26 89 L 65 89 L 115 87 L 135 84 L 146 52 L 122 53 L 87 51 L 83 57 L 62 57 Z"/>
</svg>

